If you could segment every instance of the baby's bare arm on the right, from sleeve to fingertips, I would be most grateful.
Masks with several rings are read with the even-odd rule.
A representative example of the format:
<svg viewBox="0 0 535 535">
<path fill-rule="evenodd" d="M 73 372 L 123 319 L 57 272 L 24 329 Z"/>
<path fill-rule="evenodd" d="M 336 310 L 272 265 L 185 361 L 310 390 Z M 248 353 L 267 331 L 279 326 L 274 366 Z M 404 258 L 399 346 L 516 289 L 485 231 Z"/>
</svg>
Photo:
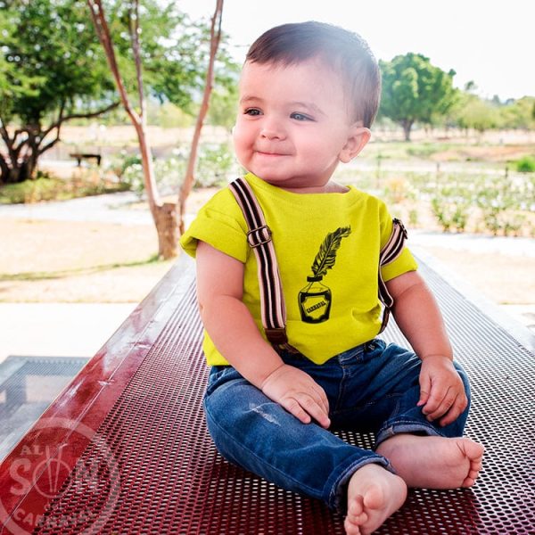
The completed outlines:
<svg viewBox="0 0 535 535">
<path fill-rule="evenodd" d="M 465 410 L 468 399 L 453 366 L 448 334 L 432 292 L 416 271 L 386 285 L 394 298 L 396 323 L 422 359 L 418 405 L 430 421 L 440 418 L 440 425 L 451 424 Z"/>
</svg>

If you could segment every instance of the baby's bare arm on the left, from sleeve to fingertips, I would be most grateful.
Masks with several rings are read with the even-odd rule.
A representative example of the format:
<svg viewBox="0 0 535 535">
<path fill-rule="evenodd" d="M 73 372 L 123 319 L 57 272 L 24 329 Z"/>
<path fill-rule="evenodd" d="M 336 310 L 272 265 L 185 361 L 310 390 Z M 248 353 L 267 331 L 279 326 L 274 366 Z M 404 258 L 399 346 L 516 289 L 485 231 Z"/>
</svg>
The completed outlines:
<svg viewBox="0 0 535 535">
<path fill-rule="evenodd" d="M 299 368 L 284 364 L 266 342 L 243 304 L 243 263 L 197 245 L 197 296 L 202 323 L 226 360 L 269 399 L 304 424 L 313 417 L 330 425 L 325 391 Z"/>
</svg>

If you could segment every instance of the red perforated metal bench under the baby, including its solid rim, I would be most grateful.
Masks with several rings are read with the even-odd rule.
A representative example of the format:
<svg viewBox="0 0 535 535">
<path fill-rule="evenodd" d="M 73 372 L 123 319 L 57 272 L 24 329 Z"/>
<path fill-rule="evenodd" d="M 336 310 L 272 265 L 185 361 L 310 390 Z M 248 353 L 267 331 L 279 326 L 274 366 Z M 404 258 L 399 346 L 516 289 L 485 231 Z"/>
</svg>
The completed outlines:
<svg viewBox="0 0 535 535">
<path fill-rule="evenodd" d="M 342 517 L 228 464 L 202 416 L 194 269 L 180 259 L 0 467 L 2 533 L 343 533 Z M 533 338 L 515 338 L 431 268 L 472 380 L 473 489 L 411 490 L 377 533 L 535 532 Z M 524 336 L 525 334 L 525 336 Z M 391 322 L 386 338 L 401 342 Z M 342 437 L 366 448 L 368 435 Z"/>
</svg>

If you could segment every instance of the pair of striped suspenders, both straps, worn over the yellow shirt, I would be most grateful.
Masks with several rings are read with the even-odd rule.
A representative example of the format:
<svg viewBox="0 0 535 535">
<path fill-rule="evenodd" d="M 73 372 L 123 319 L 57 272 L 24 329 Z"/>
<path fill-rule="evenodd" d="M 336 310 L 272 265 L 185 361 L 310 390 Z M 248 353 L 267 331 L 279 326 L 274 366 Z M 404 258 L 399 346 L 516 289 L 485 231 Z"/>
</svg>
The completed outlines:
<svg viewBox="0 0 535 535">
<path fill-rule="evenodd" d="M 286 307 L 284 305 L 283 284 L 276 262 L 275 247 L 271 240 L 271 231 L 266 224 L 262 211 L 251 186 L 243 180 L 236 178 L 229 184 L 230 191 L 234 193 L 236 202 L 243 211 L 243 217 L 249 228 L 247 242 L 251 246 L 257 259 L 260 289 L 260 308 L 262 312 L 262 325 L 268 341 L 273 345 L 295 351 L 288 343 L 286 336 Z M 379 299 L 384 305 L 383 332 L 390 317 L 394 300 L 383 282 L 381 267 L 390 264 L 399 257 L 403 250 L 403 243 L 407 238 L 407 230 L 399 219 L 392 220 L 392 233 L 379 255 Z"/>
</svg>

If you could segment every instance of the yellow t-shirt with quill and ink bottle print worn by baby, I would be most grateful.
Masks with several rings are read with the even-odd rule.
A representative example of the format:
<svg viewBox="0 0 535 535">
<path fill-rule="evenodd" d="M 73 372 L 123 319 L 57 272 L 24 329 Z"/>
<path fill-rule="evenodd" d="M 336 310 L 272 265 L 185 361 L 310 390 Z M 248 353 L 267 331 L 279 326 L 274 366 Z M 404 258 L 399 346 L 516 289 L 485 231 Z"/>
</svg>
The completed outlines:
<svg viewBox="0 0 535 535">
<path fill-rule="evenodd" d="M 271 229 L 286 303 L 288 341 L 317 364 L 379 333 L 379 251 L 391 235 L 384 203 L 350 186 L 347 193 L 290 193 L 251 173 L 245 176 Z M 247 224 L 229 188 L 199 211 L 180 243 L 195 256 L 198 240 L 244 264 L 243 302 L 263 333 L 257 262 Z M 416 270 L 405 248 L 382 268 L 384 281 Z M 203 350 L 210 366 L 226 365 L 210 336 Z"/>
</svg>

